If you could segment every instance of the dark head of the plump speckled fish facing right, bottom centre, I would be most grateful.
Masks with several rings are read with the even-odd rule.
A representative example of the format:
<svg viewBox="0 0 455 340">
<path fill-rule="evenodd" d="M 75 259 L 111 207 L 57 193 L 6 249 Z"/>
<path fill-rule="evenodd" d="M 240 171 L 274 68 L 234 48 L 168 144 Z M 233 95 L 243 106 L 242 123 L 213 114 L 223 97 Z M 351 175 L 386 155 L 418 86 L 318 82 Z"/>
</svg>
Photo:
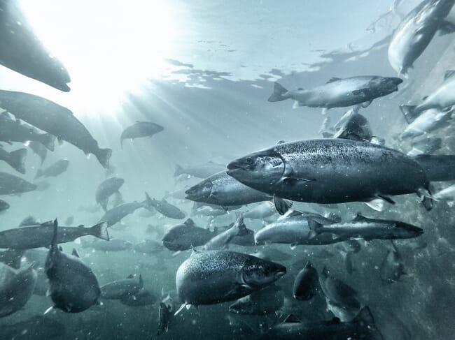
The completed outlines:
<svg viewBox="0 0 455 340">
<path fill-rule="evenodd" d="M 286 267 L 260 258 L 251 258 L 241 268 L 241 282 L 250 287 L 264 287 L 286 274 Z"/>
</svg>

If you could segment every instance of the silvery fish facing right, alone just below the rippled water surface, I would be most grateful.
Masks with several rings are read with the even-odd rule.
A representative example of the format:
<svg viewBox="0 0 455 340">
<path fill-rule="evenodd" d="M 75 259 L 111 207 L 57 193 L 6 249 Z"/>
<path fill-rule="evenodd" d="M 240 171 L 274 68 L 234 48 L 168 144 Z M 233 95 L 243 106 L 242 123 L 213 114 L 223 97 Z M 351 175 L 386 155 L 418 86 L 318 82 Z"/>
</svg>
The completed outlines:
<svg viewBox="0 0 455 340">
<path fill-rule="evenodd" d="M 328 82 L 314 89 L 296 89 L 288 91 L 275 82 L 274 91 L 269 102 L 293 99 L 297 106 L 310 108 L 344 108 L 361 105 L 366 108 L 375 99 L 398 91 L 402 80 L 397 77 L 380 77 L 378 75 L 363 75 L 358 77 L 332 77 Z"/>
</svg>

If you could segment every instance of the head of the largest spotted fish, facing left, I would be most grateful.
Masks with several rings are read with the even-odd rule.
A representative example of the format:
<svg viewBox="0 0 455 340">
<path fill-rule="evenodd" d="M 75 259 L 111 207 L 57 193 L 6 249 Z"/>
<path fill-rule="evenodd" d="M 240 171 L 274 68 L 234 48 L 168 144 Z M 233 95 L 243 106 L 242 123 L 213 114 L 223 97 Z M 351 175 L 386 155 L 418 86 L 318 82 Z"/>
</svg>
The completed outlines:
<svg viewBox="0 0 455 340">
<path fill-rule="evenodd" d="M 228 175 L 247 186 L 275 184 L 283 176 L 285 163 L 275 149 L 258 151 L 228 164 Z"/>
</svg>

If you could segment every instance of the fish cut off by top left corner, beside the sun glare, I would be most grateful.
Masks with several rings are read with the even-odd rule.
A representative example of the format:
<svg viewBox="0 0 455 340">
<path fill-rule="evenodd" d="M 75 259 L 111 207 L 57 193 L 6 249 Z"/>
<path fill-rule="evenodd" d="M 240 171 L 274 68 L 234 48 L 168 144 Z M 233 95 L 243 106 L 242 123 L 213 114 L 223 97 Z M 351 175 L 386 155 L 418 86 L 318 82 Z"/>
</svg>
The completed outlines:
<svg viewBox="0 0 455 340">
<path fill-rule="evenodd" d="M 19 1 L 0 2 L 0 41 L 1 65 L 55 89 L 70 90 L 68 71 L 35 35 Z"/>
</svg>

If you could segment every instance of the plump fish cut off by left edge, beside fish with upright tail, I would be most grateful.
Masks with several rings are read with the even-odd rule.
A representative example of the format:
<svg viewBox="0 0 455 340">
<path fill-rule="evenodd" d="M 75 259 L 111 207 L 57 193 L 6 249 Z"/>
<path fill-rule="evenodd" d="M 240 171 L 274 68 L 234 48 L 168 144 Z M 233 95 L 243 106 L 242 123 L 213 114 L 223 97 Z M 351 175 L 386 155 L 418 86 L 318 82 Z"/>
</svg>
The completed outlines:
<svg viewBox="0 0 455 340">
<path fill-rule="evenodd" d="M 25 306 L 35 289 L 36 277 L 33 265 L 15 270 L 0 264 L 0 318 Z"/>
</svg>

